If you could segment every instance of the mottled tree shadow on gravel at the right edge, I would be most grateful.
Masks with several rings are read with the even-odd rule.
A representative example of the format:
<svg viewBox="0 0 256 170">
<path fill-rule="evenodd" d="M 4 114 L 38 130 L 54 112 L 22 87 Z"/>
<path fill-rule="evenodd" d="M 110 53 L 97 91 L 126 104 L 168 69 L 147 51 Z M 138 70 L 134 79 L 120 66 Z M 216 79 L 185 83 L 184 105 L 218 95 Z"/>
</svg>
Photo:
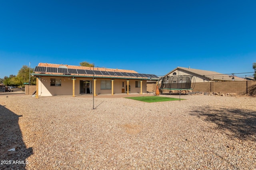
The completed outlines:
<svg viewBox="0 0 256 170">
<path fill-rule="evenodd" d="M 256 141 L 256 111 L 206 106 L 193 110 L 190 115 L 215 123 L 221 131 L 231 132 L 232 138 Z M 227 133 L 227 135 L 231 134 Z"/>
</svg>

